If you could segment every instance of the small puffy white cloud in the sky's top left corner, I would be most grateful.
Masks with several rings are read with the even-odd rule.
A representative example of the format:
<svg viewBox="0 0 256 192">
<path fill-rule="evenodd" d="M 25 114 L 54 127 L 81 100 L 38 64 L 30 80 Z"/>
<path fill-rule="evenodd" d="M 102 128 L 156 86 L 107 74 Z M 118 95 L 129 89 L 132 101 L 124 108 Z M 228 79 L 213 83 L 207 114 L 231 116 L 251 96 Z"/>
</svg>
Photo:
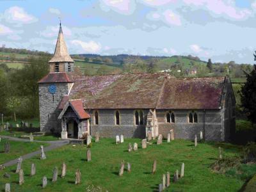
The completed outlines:
<svg viewBox="0 0 256 192">
<path fill-rule="evenodd" d="M 29 15 L 19 6 L 12 6 L 4 12 L 4 19 L 6 22 L 17 23 L 17 24 L 29 24 L 36 22 L 38 19 L 33 15 Z"/>
</svg>

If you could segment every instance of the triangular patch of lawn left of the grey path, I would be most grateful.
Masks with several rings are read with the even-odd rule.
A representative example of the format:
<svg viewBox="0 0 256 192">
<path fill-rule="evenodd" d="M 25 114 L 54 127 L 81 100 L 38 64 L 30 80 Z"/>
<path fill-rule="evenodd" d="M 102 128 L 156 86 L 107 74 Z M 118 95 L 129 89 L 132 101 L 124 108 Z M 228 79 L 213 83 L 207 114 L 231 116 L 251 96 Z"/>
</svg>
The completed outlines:
<svg viewBox="0 0 256 192">
<path fill-rule="evenodd" d="M 35 142 L 20 142 L 20 141 L 11 141 L 10 142 L 10 153 L 4 153 L 4 143 L 6 139 L 1 138 L 0 142 L 0 164 L 6 163 L 8 160 L 15 159 L 24 154 L 28 154 L 30 152 L 36 151 L 40 149 L 40 145 L 47 146 L 47 143 L 35 143 Z M 1 172 L 1 171 L 0 171 Z M 2 173 L 2 172 L 1 172 Z M 0 179 L 1 180 L 1 179 Z"/>
</svg>

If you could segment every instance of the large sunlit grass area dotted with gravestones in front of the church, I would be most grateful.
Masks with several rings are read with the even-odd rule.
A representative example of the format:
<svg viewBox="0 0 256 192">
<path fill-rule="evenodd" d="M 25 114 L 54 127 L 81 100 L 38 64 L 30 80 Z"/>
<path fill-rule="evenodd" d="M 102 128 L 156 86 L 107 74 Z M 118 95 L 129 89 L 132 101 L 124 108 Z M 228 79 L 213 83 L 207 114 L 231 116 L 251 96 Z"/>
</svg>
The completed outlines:
<svg viewBox="0 0 256 192">
<path fill-rule="evenodd" d="M 128 152 L 129 143 L 139 143 L 138 150 Z M 25 183 L 19 186 L 19 175 L 13 173 L 15 166 L 0 171 L 11 174 L 10 179 L 0 177 L 0 191 L 4 184 L 10 182 L 12 191 L 41 191 L 42 178 L 48 179 L 47 187 L 42 191 L 86 191 L 86 188 L 100 187 L 102 191 L 155 191 L 162 182 L 163 174 L 170 172 L 171 179 L 175 170 L 185 164 L 184 177 L 173 183 L 166 191 L 238 191 L 245 178 L 214 173 L 211 164 L 218 158 L 218 147 L 223 148 L 223 157 L 240 156 L 242 148 L 228 143 L 198 142 L 174 140 L 162 145 L 156 145 L 156 140 L 147 148 L 141 148 L 141 140 L 125 139 L 124 143 L 116 145 L 115 138 L 100 139 L 99 143 L 92 141 L 92 161 L 86 161 L 85 145 L 65 145 L 46 152 L 47 159 L 38 157 L 26 159 L 22 163 Z M 33 143 L 28 143 L 33 144 Z M 13 148 L 13 147 L 11 147 Z M 5 154 L 1 154 L 3 156 Z M 156 173 L 152 174 L 152 164 L 157 160 Z M 125 161 L 124 175 L 118 176 L 120 165 Z M 55 166 L 61 173 L 61 164 L 67 164 L 65 178 L 58 177 L 52 184 L 52 172 Z M 131 172 L 127 172 L 127 162 L 131 163 Z M 36 175 L 29 176 L 31 164 L 35 163 Z M 81 171 L 81 184 L 75 184 L 76 170 Z M 256 170 L 254 170 L 256 173 Z"/>
</svg>

